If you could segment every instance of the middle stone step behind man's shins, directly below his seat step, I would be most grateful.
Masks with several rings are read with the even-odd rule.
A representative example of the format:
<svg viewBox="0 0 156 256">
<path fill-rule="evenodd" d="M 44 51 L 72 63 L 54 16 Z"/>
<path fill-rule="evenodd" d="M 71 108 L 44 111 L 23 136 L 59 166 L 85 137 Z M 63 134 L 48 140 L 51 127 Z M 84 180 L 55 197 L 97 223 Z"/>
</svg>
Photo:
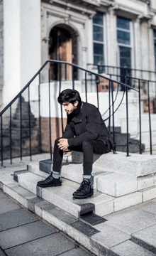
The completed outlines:
<svg viewBox="0 0 156 256">
<path fill-rule="evenodd" d="M 40 171 L 38 167 L 38 163 L 34 163 L 30 164 L 28 169 L 33 174 L 47 178 L 49 174 L 47 174 L 45 171 Z M 82 164 L 62 165 L 61 176 L 70 181 L 82 183 Z M 137 191 L 137 178 L 133 176 L 126 176 L 123 174 L 113 173 L 112 171 L 106 171 L 100 166 L 94 166 L 92 176 L 94 176 L 94 190 L 101 193 L 106 193 L 109 196 L 124 196 L 128 193 Z"/>
</svg>

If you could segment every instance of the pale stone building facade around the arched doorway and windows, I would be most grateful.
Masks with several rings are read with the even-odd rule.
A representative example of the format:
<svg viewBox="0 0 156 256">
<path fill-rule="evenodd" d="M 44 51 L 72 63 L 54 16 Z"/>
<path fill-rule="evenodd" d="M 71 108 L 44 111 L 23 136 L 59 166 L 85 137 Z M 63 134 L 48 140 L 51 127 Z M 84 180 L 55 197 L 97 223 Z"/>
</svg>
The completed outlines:
<svg viewBox="0 0 156 256">
<path fill-rule="evenodd" d="M 89 1 L 92 9 L 62 1 L 56 6 L 44 1 L 4 0 L 4 87 L 3 106 L 48 60 L 48 39 L 51 29 L 60 23 L 77 32 L 77 64 L 87 68 L 93 63 L 93 31 L 91 17 L 97 9 L 104 11 L 104 60 L 106 65 L 119 65 L 116 16 L 132 21 L 132 68 L 155 70 L 153 29 L 156 29 L 155 0 L 150 8 L 145 1 Z M 109 6 L 110 4 L 110 6 Z M 98 6 L 99 5 L 99 6 Z M 102 6 L 102 7 L 101 7 Z M 109 6 L 109 7 L 108 7 Z M 103 9 L 102 9 L 103 8 Z M 47 69 L 41 79 L 47 80 Z M 79 75 L 80 80 L 80 75 Z M 38 80 L 36 80 L 38 84 Z"/>
</svg>

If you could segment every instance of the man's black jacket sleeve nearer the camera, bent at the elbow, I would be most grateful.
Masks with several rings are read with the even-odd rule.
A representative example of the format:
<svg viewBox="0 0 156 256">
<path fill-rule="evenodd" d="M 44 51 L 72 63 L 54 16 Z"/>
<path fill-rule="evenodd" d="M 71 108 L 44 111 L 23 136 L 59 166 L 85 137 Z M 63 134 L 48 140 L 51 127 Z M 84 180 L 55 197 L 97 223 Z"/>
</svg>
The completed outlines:
<svg viewBox="0 0 156 256">
<path fill-rule="evenodd" d="M 101 130 L 101 115 L 99 110 L 93 105 L 87 114 L 86 132 L 68 139 L 69 146 L 78 146 L 86 139 L 97 139 Z"/>
</svg>

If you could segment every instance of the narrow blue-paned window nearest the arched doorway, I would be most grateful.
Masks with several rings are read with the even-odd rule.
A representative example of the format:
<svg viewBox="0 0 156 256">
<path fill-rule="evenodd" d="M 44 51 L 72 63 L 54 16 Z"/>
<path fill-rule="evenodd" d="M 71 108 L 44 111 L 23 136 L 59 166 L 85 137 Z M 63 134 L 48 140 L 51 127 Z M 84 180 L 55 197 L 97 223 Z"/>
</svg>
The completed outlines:
<svg viewBox="0 0 156 256">
<path fill-rule="evenodd" d="M 94 65 L 104 63 L 104 21 L 103 14 L 93 17 L 93 51 Z"/>
</svg>

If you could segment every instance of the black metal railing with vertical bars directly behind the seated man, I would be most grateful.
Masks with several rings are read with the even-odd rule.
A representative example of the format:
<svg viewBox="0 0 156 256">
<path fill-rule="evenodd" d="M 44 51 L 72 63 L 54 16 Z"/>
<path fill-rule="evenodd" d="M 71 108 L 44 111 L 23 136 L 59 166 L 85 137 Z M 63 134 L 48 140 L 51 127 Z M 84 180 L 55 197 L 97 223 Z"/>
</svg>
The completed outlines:
<svg viewBox="0 0 156 256">
<path fill-rule="evenodd" d="M 86 101 L 87 101 L 87 86 L 88 86 L 88 80 L 87 80 L 87 75 L 94 75 L 95 77 L 95 85 L 96 85 L 96 93 L 97 93 L 97 105 L 99 107 L 99 91 L 98 91 L 98 85 L 100 83 L 99 78 L 104 78 L 106 80 L 109 81 L 109 93 L 108 93 L 108 97 L 109 97 L 109 106 L 108 106 L 108 122 L 109 122 L 109 128 L 111 127 L 111 117 L 112 117 L 112 122 L 113 122 L 113 139 L 115 142 L 115 132 L 114 132 L 114 126 L 115 126 L 115 119 L 114 119 L 114 114 L 116 112 L 116 110 L 118 110 L 118 107 L 121 105 L 121 102 L 123 101 L 123 98 L 121 100 L 121 102 L 119 103 L 119 105 L 116 107 L 116 110 L 114 110 L 114 102 L 116 100 L 114 100 L 113 97 L 113 82 L 115 82 L 118 86 L 123 86 L 124 88 L 126 88 L 126 92 L 128 92 L 128 90 L 134 90 L 135 92 L 138 92 L 139 94 L 139 90 L 136 88 L 131 87 L 130 85 L 126 85 L 123 82 L 118 82 L 116 80 L 113 80 L 111 78 L 107 78 L 104 75 L 101 74 L 97 74 L 94 73 L 90 70 L 87 70 L 85 68 L 79 67 L 78 65 L 72 64 L 72 63 L 66 63 L 64 61 L 59 61 L 59 60 L 47 60 L 43 66 L 40 68 L 40 70 L 38 70 L 38 72 L 33 76 L 33 78 L 26 84 L 25 87 L 23 87 L 23 89 L 21 90 L 21 92 L 18 93 L 18 95 L 16 95 L 16 97 L 13 98 L 13 100 L 11 100 L 11 102 L 4 107 L 4 110 L 2 110 L 0 112 L 0 120 L 1 120 L 1 127 L 0 127 L 0 132 L 1 132 L 1 165 L 3 166 L 3 161 L 4 159 L 6 159 L 6 157 L 4 157 L 4 129 L 3 129 L 3 114 L 9 110 L 10 112 L 10 121 L 9 121 L 9 139 L 10 139 L 10 144 L 9 144 L 9 149 L 10 149 L 10 156 L 9 159 L 11 160 L 11 164 L 12 164 L 12 159 L 13 159 L 13 148 L 12 148 L 12 105 L 14 102 L 16 102 L 16 100 L 19 100 L 19 106 L 20 106 L 20 149 L 21 149 L 21 159 L 23 157 L 23 147 L 22 147 L 22 132 L 23 132 L 23 128 L 22 128 L 22 115 L 23 115 L 23 109 L 22 109 L 22 95 L 23 92 L 26 91 L 26 89 L 28 89 L 28 130 L 29 130 L 29 134 L 28 134 L 28 139 L 29 139 L 29 144 L 30 144 L 30 149 L 29 149 L 29 155 L 30 155 L 30 160 L 31 160 L 31 156 L 32 156 L 32 139 L 31 139 L 31 120 L 30 120 L 30 85 L 32 85 L 32 82 L 35 80 L 35 78 L 39 78 L 38 79 L 38 131 L 39 131 L 39 147 L 40 147 L 40 152 L 42 152 L 42 136 L 41 136 L 41 114 L 40 114 L 40 98 L 42 95 L 40 95 L 40 85 L 41 83 L 41 72 L 43 71 L 43 69 L 46 67 L 46 65 L 48 63 L 51 63 L 52 65 L 57 65 L 58 68 L 58 83 L 59 83 L 59 92 L 61 91 L 61 85 L 62 85 L 62 65 L 65 66 L 65 80 L 67 80 L 67 67 L 72 67 L 72 88 L 74 89 L 75 87 L 75 80 L 76 78 L 74 77 L 74 72 L 75 70 L 81 70 L 84 73 L 84 87 L 85 87 L 85 95 L 86 95 Z M 50 106 L 51 106 L 51 99 L 50 99 L 50 82 L 51 82 L 51 77 L 50 77 L 50 72 L 51 72 L 51 67 L 48 68 L 48 87 L 49 87 L 49 99 L 48 99 L 48 104 L 49 104 L 49 132 L 50 132 L 50 157 L 52 159 L 52 137 L 51 137 L 51 113 L 50 113 Z M 82 80 L 82 79 L 81 79 Z M 35 86 L 35 85 L 33 85 Z M 123 95 L 124 96 L 124 95 Z M 117 97 L 117 96 L 116 96 Z M 128 120 L 128 94 L 126 94 L 126 109 L 127 109 L 127 120 Z M 112 111 L 111 111 L 112 110 Z M 61 116 L 62 116 L 62 107 L 61 107 Z M 62 132 L 63 132 L 63 119 L 62 119 Z M 128 142 L 127 142 L 128 145 Z M 113 153 L 115 154 L 115 149 L 113 149 Z M 141 154 L 141 152 L 140 152 Z M 129 156 L 128 151 L 127 151 L 127 156 Z"/>
</svg>

